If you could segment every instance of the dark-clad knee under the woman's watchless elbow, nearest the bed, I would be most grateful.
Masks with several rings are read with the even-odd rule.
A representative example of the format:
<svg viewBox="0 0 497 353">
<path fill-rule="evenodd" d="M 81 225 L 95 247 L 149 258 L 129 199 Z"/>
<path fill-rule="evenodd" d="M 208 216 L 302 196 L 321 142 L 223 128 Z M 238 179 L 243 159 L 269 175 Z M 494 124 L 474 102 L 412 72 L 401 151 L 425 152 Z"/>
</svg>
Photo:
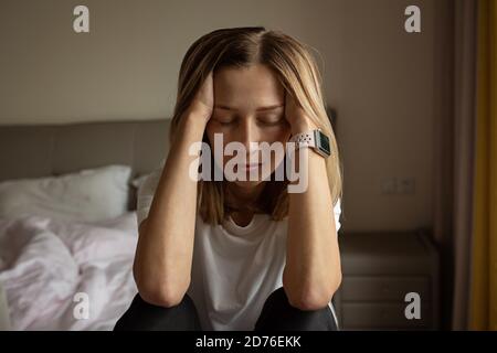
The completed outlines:
<svg viewBox="0 0 497 353">
<path fill-rule="evenodd" d="M 188 295 L 177 306 L 165 308 L 145 301 L 138 293 L 114 330 L 197 331 L 200 330 L 200 323 L 193 300 Z"/>
</svg>

